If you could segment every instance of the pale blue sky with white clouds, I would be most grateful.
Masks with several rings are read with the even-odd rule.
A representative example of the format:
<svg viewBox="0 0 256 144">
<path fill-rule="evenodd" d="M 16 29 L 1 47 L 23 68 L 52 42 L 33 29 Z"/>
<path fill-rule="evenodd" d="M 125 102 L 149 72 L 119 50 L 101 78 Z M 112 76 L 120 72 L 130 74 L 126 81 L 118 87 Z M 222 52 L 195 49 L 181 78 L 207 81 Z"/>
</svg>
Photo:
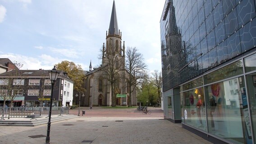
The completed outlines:
<svg viewBox="0 0 256 144">
<path fill-rule="evenodd" d="M 143 54 L 150 72 L 161 71 L 160 18 L 165 0 L 115 0 L 125 47 Z M 98 58 L 113 0 L 0 0 L 0 58 L 22 69 L 52 69 L 63 60 L 83 70 Z"/>
</svg>

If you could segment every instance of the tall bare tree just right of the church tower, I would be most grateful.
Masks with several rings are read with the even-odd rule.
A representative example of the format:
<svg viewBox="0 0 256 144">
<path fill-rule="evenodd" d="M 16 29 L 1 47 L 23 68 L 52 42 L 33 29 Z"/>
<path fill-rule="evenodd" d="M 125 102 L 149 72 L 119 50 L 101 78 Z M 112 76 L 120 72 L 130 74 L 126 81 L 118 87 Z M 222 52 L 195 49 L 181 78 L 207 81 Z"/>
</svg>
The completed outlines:
<svg viewBox="0 0 256 144">
<path fill-rule="evenodd" d="M 132 92 L 136 90 L 137 85 L 146 77 L 147 65 L 143 60 L 143 55 L 137 52 L 136 47 L 127 48 L 125 69 L 128 72 L 126 81 L 129 91 L 129 107 L 132 106 Z"/>
</svg>

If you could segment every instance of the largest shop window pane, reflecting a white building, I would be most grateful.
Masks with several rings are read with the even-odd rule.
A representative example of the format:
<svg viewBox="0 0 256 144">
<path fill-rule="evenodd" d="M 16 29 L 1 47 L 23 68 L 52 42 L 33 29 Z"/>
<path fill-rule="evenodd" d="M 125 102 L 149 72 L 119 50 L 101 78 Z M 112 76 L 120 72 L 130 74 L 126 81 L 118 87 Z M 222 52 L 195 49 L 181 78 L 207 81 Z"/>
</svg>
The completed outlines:
<svg viewBox="0 0 256 144">
<path fill-rule="evenodd" d="M 252 144 L 243 77 L 205 87 L 209 133 L 233 144 Z M 249 133 L 249 135 L 247 135 Z M 250 137 L 247 137 L 250 136 Z"/>
</svg>

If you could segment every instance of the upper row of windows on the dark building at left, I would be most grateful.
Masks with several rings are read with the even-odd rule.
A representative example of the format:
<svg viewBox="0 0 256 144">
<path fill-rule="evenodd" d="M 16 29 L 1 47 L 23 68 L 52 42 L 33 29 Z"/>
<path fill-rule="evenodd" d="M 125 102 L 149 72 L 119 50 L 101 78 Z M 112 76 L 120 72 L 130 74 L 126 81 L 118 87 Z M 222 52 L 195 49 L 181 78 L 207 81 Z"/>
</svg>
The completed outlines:
<svg viewBox="0 0 256 144">
<path fill-rule="evenodd" d="M 24 85 L 24 79 L 14 79 L 13 85 Z M 0 85 L 8 85 L 9 79 L 0 79 Z M 50 79 L 45 79 L 45 85 L 51 85 Z M 28 85 L 40 85 L 40 79 L 30 79 Z"/>
</svg>

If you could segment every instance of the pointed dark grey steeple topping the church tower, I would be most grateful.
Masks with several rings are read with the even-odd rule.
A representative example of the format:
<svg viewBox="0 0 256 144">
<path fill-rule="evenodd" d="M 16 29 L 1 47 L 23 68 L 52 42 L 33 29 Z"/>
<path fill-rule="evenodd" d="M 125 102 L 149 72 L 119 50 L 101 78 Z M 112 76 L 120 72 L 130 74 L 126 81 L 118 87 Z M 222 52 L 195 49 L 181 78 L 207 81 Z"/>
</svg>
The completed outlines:
<svg viewBox="0 0 256 144">
<path fill-rule="evenodd" d="M 113 2 L 112 13 L 110 18 L 109 35 L 119 35 L 119 29 L 117 24 L 115 4 Z"/>
</svg>

